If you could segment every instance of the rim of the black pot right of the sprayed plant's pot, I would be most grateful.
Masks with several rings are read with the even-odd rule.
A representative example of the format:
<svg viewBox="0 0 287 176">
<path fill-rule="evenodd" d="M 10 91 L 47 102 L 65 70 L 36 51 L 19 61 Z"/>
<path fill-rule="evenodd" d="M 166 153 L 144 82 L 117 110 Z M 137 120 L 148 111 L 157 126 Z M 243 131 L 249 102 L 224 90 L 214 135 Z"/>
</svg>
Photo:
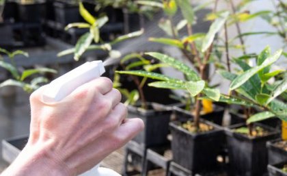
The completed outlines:
<svg viewBox="0 0 287 176">
<path fill-rule="evenodd" d="M 279 131 L 277 129 L 273 129 L 272 127 L 269 127 L 267 125 L 262 125 L 260 123 L 254 123 L 254 125 L 259 126 L 259 127 L 263 127 L 264 129 L 267 129 L 269 131 L 269 134 L 265 135 L 265 136 L 246 136 L 245 134 L 240 134 L 237 133 L 235 131 L 232 131 L 232 129 L 236 129 L 238 127 L 243 127 L 246 126 L 245 123 L 239 123 L 236 125 L 231 125 L 230 127 L 225 127 L 225 131 L 226 131 L 226 135 L 227 136 L 232 136 L 232 137 L 236 137 L 236 138 L 243 138 L 245 140 L 261 140 L 261 139 L 265 139 L 265 138 L 269 138 L 271 136 L 277 136 L 279 135 Z"/>
</svg>

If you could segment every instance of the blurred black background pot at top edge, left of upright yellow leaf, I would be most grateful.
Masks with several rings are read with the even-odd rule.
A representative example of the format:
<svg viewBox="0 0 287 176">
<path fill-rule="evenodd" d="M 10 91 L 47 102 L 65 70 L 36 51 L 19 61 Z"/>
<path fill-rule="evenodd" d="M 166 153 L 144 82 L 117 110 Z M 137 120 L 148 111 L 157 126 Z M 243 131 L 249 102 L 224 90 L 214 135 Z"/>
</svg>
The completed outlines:
<svg viewBox="0 0 287 176">
<path fill-rule="evenodd" d="M 65 2 L 55 1 L 55 21 L 65 27 L 69 23 L 80 21 L 79 6 Z"/>
</svg>

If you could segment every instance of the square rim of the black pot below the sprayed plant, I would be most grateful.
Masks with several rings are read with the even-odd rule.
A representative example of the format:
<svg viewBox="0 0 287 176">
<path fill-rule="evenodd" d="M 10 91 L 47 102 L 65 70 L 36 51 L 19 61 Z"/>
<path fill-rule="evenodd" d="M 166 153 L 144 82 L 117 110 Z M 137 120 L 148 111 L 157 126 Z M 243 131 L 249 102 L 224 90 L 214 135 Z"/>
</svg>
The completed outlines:
<svg viewBox="0 0 287 176">
<path fill-rule="evenodd" d="M 193 119 L 190 118 L 189 121 L 193 121 Z M 179 123 L 182 123 L 182 121 L 172 121 L 172 122 L 169 123 L 169 127 L 178 129 L 178 130 L 182 131 L 184 134 L 188 134 L 189 136 L 192 136 L 193 138 L 198 138 L 200 136 L 207 136 L 209 134 L 213 134 L 213 133 L 217 133 L 217 132 L 223 131 L 223 129 L 220 128 L 218 125 L 215 125 L 214 123 L 211 123 L 209 121 L 205 121 L 204 119 L 200 119 L 200 123 L 205 123 L 207 125 L 210 125 L 210 126 L 214 127 L 215 129 L 210 130 L 210 131 L 200 132 L 200 133 L 191 133 L 187 129 L 184 129 L 183 127 L 180 127 Z"/>
</svg>

